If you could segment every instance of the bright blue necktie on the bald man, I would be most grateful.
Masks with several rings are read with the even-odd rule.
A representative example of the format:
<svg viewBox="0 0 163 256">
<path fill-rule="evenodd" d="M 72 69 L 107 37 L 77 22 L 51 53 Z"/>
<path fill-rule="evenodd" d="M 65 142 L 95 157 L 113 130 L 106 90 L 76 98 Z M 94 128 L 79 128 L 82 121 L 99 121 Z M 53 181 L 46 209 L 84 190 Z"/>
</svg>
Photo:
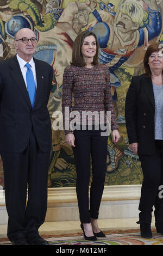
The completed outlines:
<svg viewBox="0 0 163 256">
<path fill-rule="evenodd" d="M 32 69 L 30 68 L 30 64 L 27 63 L 26 66 L 27 66 L 27 73 L 26 73 L 27 89 L 28 89 L 30 102 L 33 107 L 35 102 L 35 97 L 36 97 L 35 80 L 34 80 Z"/>
</svg>

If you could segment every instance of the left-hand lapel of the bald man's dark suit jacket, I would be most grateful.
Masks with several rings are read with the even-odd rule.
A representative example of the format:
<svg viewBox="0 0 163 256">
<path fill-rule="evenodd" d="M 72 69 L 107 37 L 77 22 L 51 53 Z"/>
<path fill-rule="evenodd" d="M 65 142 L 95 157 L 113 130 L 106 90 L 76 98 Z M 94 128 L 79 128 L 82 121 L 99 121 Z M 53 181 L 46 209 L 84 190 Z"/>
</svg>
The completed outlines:
<svg viewBox="0 0 163 256">
<path fill-rule="evenodd" d="M 17 57 L 15 56 L 11 60 L 12 61 L 10 63 L 10 74 L 11 74 L 12 78 L 14 79 L 16 86 L 21 91 L 22 96 L 24 97 L 24 100 L 26 100 L 27 104 L 31 108 L 32 105 L 30 103 L 28 91 L 27 91 L 26 84 L 25 84 L 23 76 L 22 76 L 20 65 L 18 64 Z"/>
</svg>

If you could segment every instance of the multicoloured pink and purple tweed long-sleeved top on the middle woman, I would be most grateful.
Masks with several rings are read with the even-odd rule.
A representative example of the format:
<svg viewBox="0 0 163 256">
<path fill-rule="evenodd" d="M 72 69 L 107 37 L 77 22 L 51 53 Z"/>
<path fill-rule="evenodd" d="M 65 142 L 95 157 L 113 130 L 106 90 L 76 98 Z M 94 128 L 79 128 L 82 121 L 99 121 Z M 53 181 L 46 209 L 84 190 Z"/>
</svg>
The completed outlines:
<svg viewBox="0 0 163 256">
<path fill-rule="evenodd" d="M 110 90 L 110 72 L 108 66 L 99 64 L 89 69 L 68 65 L 64 71 L 62 84 L 62 114 L 64 121 L 68 118 L 72 120 L 69 116 L 65 116 L 65 107 L 68 107 L 70 112 L 73 110 L 80 113 L 80 124 L 84 122 L 82 120 L 82 113 L 84 111 L 104 113 L 104 123 L 106 122 L 106 111 L 110 111 L 111 130 L 118 130 Z M 92 124 L 96 124 L 96 121 L 96 117 L 94 117 Z M 85 125 L 88 122 L 89 120 L 86 119 Z M 65 134 L 72 132 L 70 129 L 65 130 Z"/>
</svg>

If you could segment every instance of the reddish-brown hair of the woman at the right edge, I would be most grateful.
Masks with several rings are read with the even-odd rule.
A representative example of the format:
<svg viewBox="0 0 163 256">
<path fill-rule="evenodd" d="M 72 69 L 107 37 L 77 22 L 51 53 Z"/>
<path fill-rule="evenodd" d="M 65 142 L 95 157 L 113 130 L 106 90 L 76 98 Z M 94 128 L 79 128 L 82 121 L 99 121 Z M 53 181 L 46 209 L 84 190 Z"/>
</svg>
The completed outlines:
<svg viewBox="0 0 163 256">
<path fill-rule="evenodd" d="M 159 48 L 159 43 L 157 42 L 155 44 L 149 45 L 147 48 L 143 63 L 144 63 L 146 75 L 148 77 L 152 75 L 151 69 L 149 68 L 148 59 L 153 52 L 159 52 L 160 50 L 161 48 Z M 162 74 L 163 74 L 163 70 L 162 70 Z"/>
</svg>

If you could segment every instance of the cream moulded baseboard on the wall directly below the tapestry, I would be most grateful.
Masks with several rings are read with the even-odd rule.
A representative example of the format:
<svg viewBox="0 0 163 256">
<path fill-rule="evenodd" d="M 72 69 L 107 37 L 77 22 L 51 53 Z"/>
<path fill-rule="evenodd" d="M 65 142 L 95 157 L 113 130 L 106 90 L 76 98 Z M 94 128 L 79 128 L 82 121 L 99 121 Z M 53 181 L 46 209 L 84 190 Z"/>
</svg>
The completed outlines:
<svg viewBox="0 0 163 256">
<path fill-rule="evenodd" d="M 141 185 L 105 186 L 99 219 L 135 218 Z M 75 187 L 48 188 L 46 222 L 79 220 Z M 0 224 L 6 224 L 8 215 L 5 208 L 4 191 L 0 190 Z"/>
</svg>

